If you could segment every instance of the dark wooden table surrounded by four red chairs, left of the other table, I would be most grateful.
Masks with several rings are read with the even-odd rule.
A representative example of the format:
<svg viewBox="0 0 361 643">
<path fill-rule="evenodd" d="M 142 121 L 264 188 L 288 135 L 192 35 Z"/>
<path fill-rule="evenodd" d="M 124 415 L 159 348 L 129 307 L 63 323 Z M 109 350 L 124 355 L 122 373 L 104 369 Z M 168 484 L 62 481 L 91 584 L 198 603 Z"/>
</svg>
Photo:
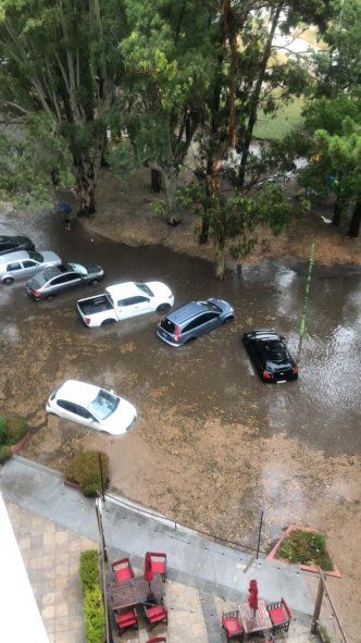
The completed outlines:
<svg viewBox="0 0 361 643">
<path fill-rule="evenodd" d="M 165 585 L 160 573 L 154 573 L 150 581 L 150 591 L 157 602 L 165 596 Z M 121 583 L 110 583 L 112 609 L 124 609 L 147 603 L 149 597 L 149 582 L 142 576 L 136 576 Z"/>
</svg>

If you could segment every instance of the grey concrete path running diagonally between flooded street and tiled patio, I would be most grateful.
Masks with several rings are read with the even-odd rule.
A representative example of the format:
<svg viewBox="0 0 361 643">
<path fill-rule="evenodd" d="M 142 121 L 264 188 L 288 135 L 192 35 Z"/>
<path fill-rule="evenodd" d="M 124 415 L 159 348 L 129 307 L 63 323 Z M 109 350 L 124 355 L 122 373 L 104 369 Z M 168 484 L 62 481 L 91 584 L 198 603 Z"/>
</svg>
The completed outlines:
<svg viewBox="0 0 361 643">
<path fill-rule="evenodd" d="M 16 456 L 0 470 L 0 490 L 21 507 L 98 541 L 94 499 L 64 486 L 58 472 Z M 249 580 L 257 578 L 260 596 L 265 601 L 285 596 L 294 610 L 312 614 L 309 590 L 298 567 L 253 560 L 249 554 L 196 532 L 182 528 L 175 531 L 161 517 L 148 517 L 105 498 L 103 525 L 109 548 L 138 557 L 139 564 L 147 551 L 166 552 L 171 579 L 195 584 L 204 592 L 216 591 L 225 598 L 246 598 Z"/>
</svg>

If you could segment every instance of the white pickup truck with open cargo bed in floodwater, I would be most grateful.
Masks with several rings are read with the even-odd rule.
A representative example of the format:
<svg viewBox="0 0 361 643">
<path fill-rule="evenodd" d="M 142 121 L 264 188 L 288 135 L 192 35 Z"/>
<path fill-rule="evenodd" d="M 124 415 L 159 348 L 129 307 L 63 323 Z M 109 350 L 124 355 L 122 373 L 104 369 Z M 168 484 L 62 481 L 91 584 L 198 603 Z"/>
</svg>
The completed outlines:
<svg viewBox="0 0 361 643">
<path fill-rule="evenodd" d="M 146 312 L 164 312 L 173 304 L 173 294 L 162 282 L 125 282 L 109 286 L 103 295 L 79 299 L 77 309 L 85 325 L 95 327 Z"/>
</svg>

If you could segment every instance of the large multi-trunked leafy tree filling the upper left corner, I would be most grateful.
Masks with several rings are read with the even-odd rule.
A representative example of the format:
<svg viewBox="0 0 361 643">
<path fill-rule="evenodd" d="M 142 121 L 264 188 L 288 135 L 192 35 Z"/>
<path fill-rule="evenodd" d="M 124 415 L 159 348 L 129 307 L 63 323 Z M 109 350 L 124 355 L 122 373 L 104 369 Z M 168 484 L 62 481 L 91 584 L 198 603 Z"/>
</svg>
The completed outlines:
<svg viewBox="0 0 361 643">
<path fill-rule="evenodd" d="M 123 35 L 122 5 L 112 0 L 0 2 L 0 112 L 25 132 L 18 153 L 12 147 L 12 169 L 24 165 L 26 144 L 30 156 L 36 136 L 26 138 L 28 124 L 41 124 L 41 149 L 34 150 L 73 172 L 79 211 L 86 214 L 96 209 L 107 114 L 122 78 L 117 44 Z M 4 141 L 0 149 L 7 149 Z M 39 172 L 42 166 L 38 160 Z M 17 181 L 21 193 L 22 173 Z M 46 185 L 43 176 L 39 182 Z M 14 171 L 10 184 L 16 191 Z"/>
</svg>

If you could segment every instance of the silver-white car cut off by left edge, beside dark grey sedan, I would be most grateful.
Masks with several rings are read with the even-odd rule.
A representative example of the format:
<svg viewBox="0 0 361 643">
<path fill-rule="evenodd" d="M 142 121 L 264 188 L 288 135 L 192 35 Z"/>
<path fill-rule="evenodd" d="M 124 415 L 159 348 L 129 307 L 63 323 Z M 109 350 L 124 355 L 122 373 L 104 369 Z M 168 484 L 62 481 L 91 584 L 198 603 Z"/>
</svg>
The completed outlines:
<svg viewBox="0 0 361 643">
<path fill-rule="evenodd" d="M 51 265 L 60 265 L 61 259 L 51 250 L 17 250 L 0 257 L 0 280 L 10 286 L 14 280 L 33 276 Z"/>
</svg>

